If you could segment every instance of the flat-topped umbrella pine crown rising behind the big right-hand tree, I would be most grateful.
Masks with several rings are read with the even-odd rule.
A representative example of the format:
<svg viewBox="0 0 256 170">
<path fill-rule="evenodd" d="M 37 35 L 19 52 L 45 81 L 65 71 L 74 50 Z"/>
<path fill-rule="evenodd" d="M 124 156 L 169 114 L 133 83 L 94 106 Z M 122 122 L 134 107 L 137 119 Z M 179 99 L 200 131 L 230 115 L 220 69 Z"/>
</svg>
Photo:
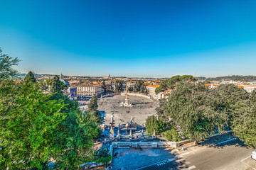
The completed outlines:
<svg viewBox="0 0 256 170">
<path fill-rule="evenodd" d="M 167 89 L 174 89 L 178 84 L 181 84 L 186 81 L 197 81 L 196 78 L 194 78 L 191 75 L 177 75 L 174 77 L 171 77 L 170 79 L 166 79 L 161 82 L 160 86 L 156 88 L 155 92 L 156 94 L 159 94 L 161 91 L 165 91 Z"/>
</svg>

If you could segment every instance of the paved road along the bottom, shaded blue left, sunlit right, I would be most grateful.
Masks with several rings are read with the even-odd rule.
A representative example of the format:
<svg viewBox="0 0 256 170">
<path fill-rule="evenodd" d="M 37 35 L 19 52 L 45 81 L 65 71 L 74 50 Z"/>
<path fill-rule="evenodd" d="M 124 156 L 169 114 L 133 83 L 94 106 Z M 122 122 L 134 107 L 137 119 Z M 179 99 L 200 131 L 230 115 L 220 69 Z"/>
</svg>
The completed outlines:
<svg viewBox="0 0 256 170">
<path fill-rule="evenodd" d="M 213 137 L 197 147 L 188 144 L 184 148 L 115 149 L 118 156 L 112 166 L 116 170 L 256 170 L 256 161 L 250 158 L 254 149 L 245 147 L 232 135 Z"/>
</svg>

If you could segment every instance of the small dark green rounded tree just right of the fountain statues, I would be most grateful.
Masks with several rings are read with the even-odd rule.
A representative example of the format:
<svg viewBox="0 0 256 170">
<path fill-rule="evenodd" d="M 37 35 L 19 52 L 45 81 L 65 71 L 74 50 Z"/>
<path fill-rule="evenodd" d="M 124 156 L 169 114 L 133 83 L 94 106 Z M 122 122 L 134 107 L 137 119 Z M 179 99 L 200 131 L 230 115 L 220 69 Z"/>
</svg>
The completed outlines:
<svg viewBox="0 0 256 170">
<path fill-rule="evenodd" d="M 156 116 L 151 115 L 148 118 L 146 118 L 146 133 L 148 135 L 153 135 L 154 130 L 156 131 L 156 135 L 161 134 L 161 132 L 164 132 L 166 124 L 164 123 L 164 120 L 157 120 Z"/>
</svg>

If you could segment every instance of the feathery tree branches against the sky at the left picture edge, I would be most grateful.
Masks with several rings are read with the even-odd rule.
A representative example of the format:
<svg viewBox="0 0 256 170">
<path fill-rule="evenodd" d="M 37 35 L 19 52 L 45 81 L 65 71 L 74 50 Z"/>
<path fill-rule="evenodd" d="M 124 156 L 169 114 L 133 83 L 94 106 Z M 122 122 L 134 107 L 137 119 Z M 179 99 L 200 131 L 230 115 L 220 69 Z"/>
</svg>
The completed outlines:
<svg viewBox="0 0 256 170">
<path fill-rule="evenodd" d="M 15 69 L 11 68 L 14 65 L 18 65 L 18 58 L 9 57 L 4 55 L 0 48 L 0 81 L 9 77 L 14 77 L 18 73 Z"/>
</svg>

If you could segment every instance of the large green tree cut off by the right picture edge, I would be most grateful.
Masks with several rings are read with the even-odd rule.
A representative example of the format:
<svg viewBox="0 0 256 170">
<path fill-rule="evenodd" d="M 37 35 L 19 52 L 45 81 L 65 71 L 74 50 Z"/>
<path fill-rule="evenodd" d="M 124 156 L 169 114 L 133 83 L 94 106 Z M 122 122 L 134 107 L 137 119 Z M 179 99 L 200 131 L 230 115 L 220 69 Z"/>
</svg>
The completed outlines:
<svg viewBox="0 0 256 170">
<path fill-rule="evenodd" d="M 221 85 L 215 91 L 215 98 L 229 116 L 228 125 L 245 145 L 256 147 L 256 103 L 255 91 L 248 94 L 233 84 Z"/>
</svg>

